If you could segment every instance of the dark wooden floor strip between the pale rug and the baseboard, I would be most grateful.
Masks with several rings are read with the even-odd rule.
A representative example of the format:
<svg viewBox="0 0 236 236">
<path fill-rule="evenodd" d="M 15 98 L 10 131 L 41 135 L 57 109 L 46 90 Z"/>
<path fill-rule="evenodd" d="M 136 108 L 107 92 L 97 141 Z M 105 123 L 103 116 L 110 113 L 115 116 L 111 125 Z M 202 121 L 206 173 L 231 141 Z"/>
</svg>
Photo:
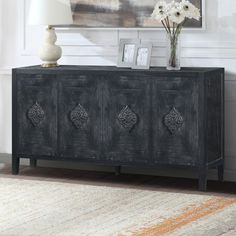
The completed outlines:
<svg viewBox="0 0 236 236">
<path fill-rule="evenodd" d="M 0 168 L 1 175 L 11 175 L 11 166 L 4 165 Z M 198 181 L 196 179 L 175 178 L 175 177 L 160 177 L 135 174 L 121 174 L 116 176 L 114 173 L 71 170 L 59 168 L 37 167 L 31 168 L 21 166 L 20 174 L 12 176 L 23 179 L 55 179 L 58 182 L 77 182 L 78 180 L 90 184 L 116 184 L 119 186 L 131 185 L 134 188 L 158 189 L 165 188 L 169 191 L 198 191 Z M 218 182 L 208 181 L 207 193 L 227 193 L 236 194 L 235 182 Z M 206 194 L 207 194 L 206 193 Z"/>
</svg>

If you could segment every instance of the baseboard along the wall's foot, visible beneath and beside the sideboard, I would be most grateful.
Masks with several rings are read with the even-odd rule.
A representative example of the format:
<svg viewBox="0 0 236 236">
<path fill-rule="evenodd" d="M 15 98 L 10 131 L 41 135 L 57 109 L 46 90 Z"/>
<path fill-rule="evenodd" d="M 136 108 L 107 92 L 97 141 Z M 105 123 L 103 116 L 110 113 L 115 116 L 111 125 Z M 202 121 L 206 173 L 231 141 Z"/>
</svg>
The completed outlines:
<svg viewBox="0 0 236 236">
<path fill-rule="evenodd" d="M 0 154 L 0 163 L 11 164 L 11 154 Z M 22 159 L 21 165 L 29 165 L 28 159 Z M 113 172 L 114 169 L 108 166 L 98 166 L 91 164 L 81 164 L 72 162 L 61 162 L 61 161 L 38 161 L 38 166 L 40 167 L 52 167 L 52 168 L 68 168 L 68 169 L 79 169 L 79 170 L 91 170 L 91 171 L 106 171 Z M 132 169 L 132 168 L 122 168 L 122 173 L 132 173 L 132 174 L 146 174 L 146 175 L 160 175 L 169 177 L 183 177 L 183 178 L 197 178 L 196 174 L 193 174 L 191 170 L 176 170 L 171 169 Z M 210 180 L 217 179 L 216 170 L 210 170 L 208 178 Z M 225 170 L 225 181 L 236 182 L 236 170 Z"/>
</svg>

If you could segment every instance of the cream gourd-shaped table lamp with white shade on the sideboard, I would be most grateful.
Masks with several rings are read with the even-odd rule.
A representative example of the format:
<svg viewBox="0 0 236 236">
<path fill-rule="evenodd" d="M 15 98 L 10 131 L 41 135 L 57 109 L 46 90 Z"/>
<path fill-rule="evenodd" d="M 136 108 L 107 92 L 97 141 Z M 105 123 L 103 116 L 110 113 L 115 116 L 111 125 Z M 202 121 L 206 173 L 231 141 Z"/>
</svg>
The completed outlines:
<svg viewBox="0 0 236 236">
<path fill-rule="evenodd" d="M 42 67 L 58 66 L 62 49 L 55 43 L 57 36 L 53 26 L 73 23 L 69 0 L 31 0 L 28 23 L 30 25 L 46 25 L 43 45 L 39 50 Z"/>
</svg>

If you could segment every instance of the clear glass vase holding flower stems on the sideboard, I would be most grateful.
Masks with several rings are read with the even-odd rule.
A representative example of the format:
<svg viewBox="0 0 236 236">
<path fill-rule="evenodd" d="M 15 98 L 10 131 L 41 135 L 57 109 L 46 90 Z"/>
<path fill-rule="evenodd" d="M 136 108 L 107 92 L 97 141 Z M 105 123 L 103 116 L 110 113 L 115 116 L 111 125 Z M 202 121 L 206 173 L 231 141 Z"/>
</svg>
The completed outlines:
<svg viewBox="0 0 236 236">
<path fill-rule="evenodd" d="M 180 70 L 180 35 L 167 34 L 167 70 Z"/>
</svg>

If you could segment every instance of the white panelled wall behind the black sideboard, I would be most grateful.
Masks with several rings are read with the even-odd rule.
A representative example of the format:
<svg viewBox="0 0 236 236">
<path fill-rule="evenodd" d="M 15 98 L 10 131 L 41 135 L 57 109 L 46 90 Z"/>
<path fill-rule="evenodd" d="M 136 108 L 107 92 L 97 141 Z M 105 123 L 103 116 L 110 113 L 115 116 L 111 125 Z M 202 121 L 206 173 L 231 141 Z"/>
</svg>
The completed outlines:
<svg viewBox="0 0 236 236">
<path fill-rule="evenodd" d="M 236 1 L 206 0 L 206 9 L 207 29 L 182 34 L 182 66 L 226 68 L 226 171 L 227 179 L 236 181 Z M 27 0 L 0 0 L 0 10 L 0 153 L 10 153 L 10 69 L 40 63 L 36 52 L 43 29 L 25 24 Z M 115 65 L 119 39 L 132 37 L 151 41 L 152 65 L 165 65 L 165 34 L 159 30 L 60 30 L 60 63 Z"/>
</svg>

